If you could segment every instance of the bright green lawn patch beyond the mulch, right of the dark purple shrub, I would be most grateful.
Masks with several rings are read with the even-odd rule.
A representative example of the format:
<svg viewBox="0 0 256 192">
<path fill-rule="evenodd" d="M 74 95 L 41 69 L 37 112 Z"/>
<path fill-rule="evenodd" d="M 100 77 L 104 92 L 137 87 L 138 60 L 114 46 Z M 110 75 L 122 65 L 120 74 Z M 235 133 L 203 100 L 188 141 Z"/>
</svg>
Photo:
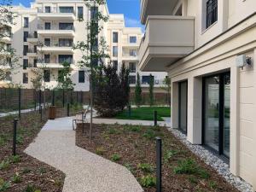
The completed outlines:
<svg viewBox="0 0 256 192">
<path fill-rule="evenodd" d="M 162 117 L 171 116 L 171 108 L 169 107 L 141 107 L 131 108 L 131 116 L 129 116 L 128 110 L 118 113 L 116 119 L 137 119 L 137 120 L 154 120 L 154 110 L 157 111 L 157 119 L 164 120 Z"/>
</svg>

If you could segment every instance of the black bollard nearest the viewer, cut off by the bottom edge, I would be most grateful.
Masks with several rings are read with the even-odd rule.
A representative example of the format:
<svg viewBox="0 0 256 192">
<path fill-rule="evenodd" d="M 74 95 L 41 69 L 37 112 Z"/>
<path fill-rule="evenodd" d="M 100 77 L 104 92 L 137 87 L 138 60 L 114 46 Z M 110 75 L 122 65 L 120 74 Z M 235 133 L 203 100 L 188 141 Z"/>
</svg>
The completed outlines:
<svg viewBox="0 0 256 192">
<path fill-rule="evenodd" d="M 162 140 L 156 137 L 156 191 L 162 190 Z"/>
</svg>

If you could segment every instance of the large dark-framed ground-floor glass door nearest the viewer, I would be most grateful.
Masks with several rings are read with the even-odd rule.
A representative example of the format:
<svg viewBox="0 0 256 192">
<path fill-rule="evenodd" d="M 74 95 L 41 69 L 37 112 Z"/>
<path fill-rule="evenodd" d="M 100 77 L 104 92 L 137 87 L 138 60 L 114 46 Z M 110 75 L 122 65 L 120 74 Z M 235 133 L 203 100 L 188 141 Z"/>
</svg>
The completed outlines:
<svg viewBox="0 0 256 192">
<path fill-rule="evenodd" d="M 203 79 L 203 143 L 230 158 L 230 73 Z"/>
</svg>

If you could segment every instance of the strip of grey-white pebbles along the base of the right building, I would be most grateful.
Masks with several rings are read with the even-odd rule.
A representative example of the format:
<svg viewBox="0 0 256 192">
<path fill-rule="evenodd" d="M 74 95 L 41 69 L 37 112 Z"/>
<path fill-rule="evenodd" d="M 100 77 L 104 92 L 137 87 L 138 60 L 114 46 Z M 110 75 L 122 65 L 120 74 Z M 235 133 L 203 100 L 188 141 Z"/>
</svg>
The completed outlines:
<svg viewBox="0 0 256 192">
<path fill-rule="evenodd" d="M 223 160 L 219 159 L 218 156 L 212 154 L 206 148 L 203 148 L 201 145 L 195 145 L 189 143 L 187 136 L 177 129 L 168 129 L 172 131 L 173 135 L 181 140 L 194 154 L 199 156 L 201 160 L 204 160 L 205 163 L 209 166 L 212 166 L 214 170 L 218 172 L 219 175 L 223 176 L 227 182 L 232 184 L 242 192 L 253 192 L 253 187 L 241 179 L 241 177 L 236 177 L 230 172 L 229 165 L 226 164 Z"/>
</svg>

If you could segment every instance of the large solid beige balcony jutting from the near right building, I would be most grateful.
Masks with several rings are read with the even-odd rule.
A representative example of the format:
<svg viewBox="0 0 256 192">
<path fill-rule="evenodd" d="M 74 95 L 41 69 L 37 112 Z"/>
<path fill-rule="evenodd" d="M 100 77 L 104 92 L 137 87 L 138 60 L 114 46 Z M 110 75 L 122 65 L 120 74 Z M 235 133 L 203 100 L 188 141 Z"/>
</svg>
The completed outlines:
<svg viewBox="0 0 256 192">
<path fill-rule="evenodd" d="M 139 48 L 142 71 L 165 72 L 166 67 L 195 48 L 194 17 L 148 16 Z"/>
</svg>

